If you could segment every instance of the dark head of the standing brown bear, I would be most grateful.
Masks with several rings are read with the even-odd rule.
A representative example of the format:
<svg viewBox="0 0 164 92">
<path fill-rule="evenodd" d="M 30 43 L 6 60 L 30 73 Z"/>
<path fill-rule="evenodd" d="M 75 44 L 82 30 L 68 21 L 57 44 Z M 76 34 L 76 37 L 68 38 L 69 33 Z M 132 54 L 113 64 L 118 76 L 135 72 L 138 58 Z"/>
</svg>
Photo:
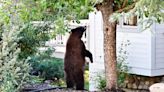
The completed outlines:
<svg viewBox="0 0 164 92">
<path fill-rule="evenodd" d="M 72 34 L 75 34 L 76 36 L 81 38 L 85 30 L 86 30 L 86 26 L 79 26 L 77 28 L 72 29 L 71 32 Z"/>
</svg>

